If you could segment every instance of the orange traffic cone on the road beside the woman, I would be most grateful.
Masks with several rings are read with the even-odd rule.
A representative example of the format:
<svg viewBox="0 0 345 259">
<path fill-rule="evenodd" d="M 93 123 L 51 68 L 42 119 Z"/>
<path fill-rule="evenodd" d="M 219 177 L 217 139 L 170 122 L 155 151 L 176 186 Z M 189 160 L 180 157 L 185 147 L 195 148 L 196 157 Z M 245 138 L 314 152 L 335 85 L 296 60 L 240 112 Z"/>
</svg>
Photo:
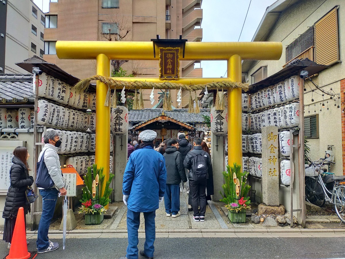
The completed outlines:
<svg viewBox="0 0 345 259">
<path fill-rule="evenodd" d="M 4 259 L 33 259 L 37 252 L 28 252 L 26 244 L 26 229 L 24 221 L 24 208 L 20 207 L 17 215 L 16 225 L 14 226 L 10 253 Z"/>
</svg>

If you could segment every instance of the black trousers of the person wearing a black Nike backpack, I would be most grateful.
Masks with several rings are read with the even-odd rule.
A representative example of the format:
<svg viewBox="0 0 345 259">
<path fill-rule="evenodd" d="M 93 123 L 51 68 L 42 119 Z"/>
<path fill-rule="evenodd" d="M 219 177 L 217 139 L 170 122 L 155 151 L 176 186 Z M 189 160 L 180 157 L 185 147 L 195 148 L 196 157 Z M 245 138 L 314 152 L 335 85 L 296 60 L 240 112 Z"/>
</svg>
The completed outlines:
<svg viewBox="0 0 345 259">
<path fill-rule="evenodd" d="M 189 193 L 192 196 L 192 207 L 194 211 L 194 217 L 204 216 L 206 212 L 206 184 L 204 182 L 196 182 L 194 180 L 189 180 Z M 200 209 L 198 208 L 200 205 Z"/>
</svg>

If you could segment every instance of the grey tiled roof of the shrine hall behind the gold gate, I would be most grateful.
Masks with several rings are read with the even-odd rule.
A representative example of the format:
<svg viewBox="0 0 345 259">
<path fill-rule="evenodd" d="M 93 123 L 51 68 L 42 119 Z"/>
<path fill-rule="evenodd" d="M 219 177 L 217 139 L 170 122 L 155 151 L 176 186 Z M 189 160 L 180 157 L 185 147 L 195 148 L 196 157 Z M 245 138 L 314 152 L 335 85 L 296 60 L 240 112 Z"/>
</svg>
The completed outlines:
<svg viewBox="0 0 345 259">
<path fill-rule="evenodd" d="M 129 111 L 129 123 L 136 124 L 149 121 L 162 114 L 163 109 L 144 109 L 144 110 L 131 110 Z M 204 118 L 202 115 L 210 115 L 208 109 L 200 109 L 200 113 L 188 113 L 188 109 L 174 109 L 173 111 L 164 111 L 166 116 L 176 119 L 184 123 L 202 123 Z"/>
</svg>

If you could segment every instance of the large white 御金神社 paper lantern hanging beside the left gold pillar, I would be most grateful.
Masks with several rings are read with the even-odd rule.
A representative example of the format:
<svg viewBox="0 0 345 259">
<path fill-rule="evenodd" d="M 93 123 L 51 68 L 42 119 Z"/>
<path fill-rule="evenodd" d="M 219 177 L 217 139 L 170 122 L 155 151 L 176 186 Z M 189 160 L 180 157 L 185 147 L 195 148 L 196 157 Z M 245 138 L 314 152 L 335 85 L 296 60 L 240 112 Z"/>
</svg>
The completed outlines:
<svg viewBox="0 0 345 259">
<path fill-rule="evenodd" d="M 128 109 L 125 106 L 111 109 L 110 125 L 114 135 L 128 134 Z"/>
</svg>

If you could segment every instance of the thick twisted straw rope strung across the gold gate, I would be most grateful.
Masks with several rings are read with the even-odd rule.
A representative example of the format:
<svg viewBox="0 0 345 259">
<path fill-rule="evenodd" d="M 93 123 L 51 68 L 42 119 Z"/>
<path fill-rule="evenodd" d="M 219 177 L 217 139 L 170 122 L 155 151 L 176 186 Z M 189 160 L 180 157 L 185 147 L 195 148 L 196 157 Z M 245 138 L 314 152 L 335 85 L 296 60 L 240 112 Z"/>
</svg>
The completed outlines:
<svg viewBox="0 0 345 259">
<path fill-rule="evenodd" d="M 219 81 L 219 82 L 210 82 L 207 84 L 198 84 L 198 85 L 184 85 L 178 84 L 173 82 L 164 82 L 164 83 L 154 83 L 154 82 L 144 82 L 144 81 L 122 81 L 122 80 L 115 80 L 111 77 L 104 77 L 100 75 L 91 76 L 89 78 L 81 79 L 74 87 L 76 90 L 80 92 L 86 92 L 90 86 L 91 80 L 100 80 L 101 82 L 107 84 L 108 86 L 114 88 L 122 88 L 123 84 L 125 83 L 127 87 L 135 89 L 135 88 L 153 88 L 155 89 L 176 89 L 179 90 L 180 88 L 184 90 L 188 90 L 189 92 L 195 90 L 203 90 L 205 87 L 208 89 L 219 89 L 219 88 L 241 88 L 245 92 L 248 91 L 249 84 L 247 83 L 240 83 L 240 82 L 229 82 L 229 81 Z"/>
</svg>

